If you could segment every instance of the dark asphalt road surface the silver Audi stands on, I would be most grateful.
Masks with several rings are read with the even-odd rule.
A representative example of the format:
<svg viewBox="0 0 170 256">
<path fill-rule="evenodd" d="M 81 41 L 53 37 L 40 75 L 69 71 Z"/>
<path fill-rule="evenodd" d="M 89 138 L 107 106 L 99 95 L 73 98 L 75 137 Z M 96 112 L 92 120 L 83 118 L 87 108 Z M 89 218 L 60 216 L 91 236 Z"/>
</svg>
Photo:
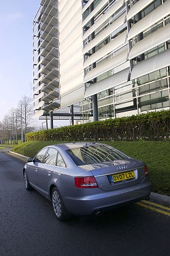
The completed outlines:
<svg viewBox="0 0 170 256">
<path fill-rule="evenodd" d="M 60 222 L 48 199 L 24 189 L 23 166 L 24 161 L 0 153 L 0 255 L 169 255 L 165 208 L 156 212 L 133 204 L 101 217 Z"/>
</svg>

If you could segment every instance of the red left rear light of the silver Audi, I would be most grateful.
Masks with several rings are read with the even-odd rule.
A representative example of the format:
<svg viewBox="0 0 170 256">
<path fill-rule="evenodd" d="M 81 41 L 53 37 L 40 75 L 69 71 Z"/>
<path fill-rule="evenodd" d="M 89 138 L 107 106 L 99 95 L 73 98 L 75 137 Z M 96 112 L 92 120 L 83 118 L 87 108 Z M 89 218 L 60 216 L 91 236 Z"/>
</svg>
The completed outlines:
<svg viewBox="0 0 170 256">
<path fill-rule="evenodd" d="M 97 182 L 94 176 L 75 177 L 75 187 L 79 189 L 94 189 L 97 188 Z"/>
</svg>

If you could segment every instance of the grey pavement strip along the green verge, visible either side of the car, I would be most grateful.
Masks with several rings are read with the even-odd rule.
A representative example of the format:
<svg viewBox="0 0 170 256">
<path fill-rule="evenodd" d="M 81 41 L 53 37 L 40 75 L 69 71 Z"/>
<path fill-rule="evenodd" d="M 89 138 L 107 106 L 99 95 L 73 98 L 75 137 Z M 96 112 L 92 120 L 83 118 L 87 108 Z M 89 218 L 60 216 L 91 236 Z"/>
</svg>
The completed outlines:
<svg viewBox="0 0 170 256">
<path fill-rule="evenodd" d="M 14 155 L 18 157 L 19 159 L 22 159 L 23 161 L 27 161 L 29 157 L 25 157 L 24 155 L 20 155 L 18 153 L 12 152 L 12 148 L 6 148 L 6 147 L 0 147 L 0 152 L 6 152 L 9 153 L 10 155 Z M 170 206 L 170 197 L 168 195 L 161 195 L 158 193 L 151 192 L 150 193 L 150 199 L 156 200 L 159 202 L 164 202 L 166 205 Z"/>
</svg>

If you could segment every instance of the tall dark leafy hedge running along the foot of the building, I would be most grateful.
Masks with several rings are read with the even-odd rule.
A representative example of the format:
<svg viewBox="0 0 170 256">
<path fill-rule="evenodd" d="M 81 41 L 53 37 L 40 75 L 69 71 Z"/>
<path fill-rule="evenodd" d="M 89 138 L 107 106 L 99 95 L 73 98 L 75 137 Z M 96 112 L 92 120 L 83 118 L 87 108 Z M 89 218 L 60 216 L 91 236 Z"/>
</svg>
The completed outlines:
<svg viewBox="0 0 170 256">
<path fill-rule="evenodd" d="M 160 141 L 170 139 L 170 110 L 27 133 L 31 140 Z"/>
</svg>

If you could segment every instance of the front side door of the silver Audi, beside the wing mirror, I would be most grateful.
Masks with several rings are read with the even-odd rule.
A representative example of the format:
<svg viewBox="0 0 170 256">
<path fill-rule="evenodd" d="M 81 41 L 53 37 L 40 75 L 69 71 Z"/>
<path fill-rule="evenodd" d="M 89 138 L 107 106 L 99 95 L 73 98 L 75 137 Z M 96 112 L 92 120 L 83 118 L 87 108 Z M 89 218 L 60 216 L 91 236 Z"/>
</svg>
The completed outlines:
<svg viewBox="0 0 170 256">
<path fill-rule="evenodd" d="M 41 163 L 44 162 L 44 157 L 46 155 L 48 148 L 43 148 L 37 153 L 33 162 L 29 163 L 27 175 L 29 178 L 29 182 L 35 189 L 38 189 L 38 169 Z"/>
</svg>

